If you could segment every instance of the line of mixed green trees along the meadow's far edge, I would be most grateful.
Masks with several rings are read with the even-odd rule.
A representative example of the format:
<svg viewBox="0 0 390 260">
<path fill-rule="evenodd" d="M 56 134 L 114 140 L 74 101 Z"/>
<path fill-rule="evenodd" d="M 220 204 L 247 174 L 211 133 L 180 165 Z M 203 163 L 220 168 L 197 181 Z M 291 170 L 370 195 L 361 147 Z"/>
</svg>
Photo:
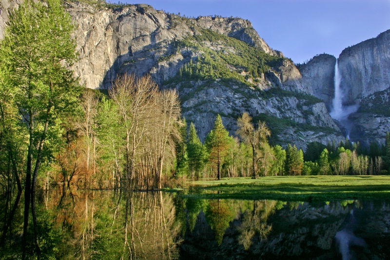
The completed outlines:
<svg viewBox="0 0 390 260">
<path fill-rule="evenodd" d="M 184 127 L 184 126 L 183 126 Z M 306 153 L 295 145 L 270 145 L 271 131 L 264 121 L 252 122 L 248 113 L 237 120 L 236 135 L 229 136 L 218 115 L 204 144 L 191 123 L 188 136 L 182 130 L 177 145 L 176 171 L 189 178 L 300 176 L 300 175 L 379 175 L 388 174 L 390 135 L 381 146 L 369 149 L 349 140 L 324 145 L 312 142 Z M 185 152 L 186 151 L 186 152 Z"/>
</svg>

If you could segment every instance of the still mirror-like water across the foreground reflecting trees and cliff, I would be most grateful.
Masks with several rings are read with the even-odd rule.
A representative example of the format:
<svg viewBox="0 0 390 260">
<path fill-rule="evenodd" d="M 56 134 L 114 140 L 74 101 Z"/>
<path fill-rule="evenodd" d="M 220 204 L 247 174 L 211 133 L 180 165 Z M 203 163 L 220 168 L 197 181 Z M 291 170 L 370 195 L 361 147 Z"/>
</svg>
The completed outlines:
<svg viewBox="0 0 390 260">
<path fill-rule="evenodd" d="M 43 259 L 390 259 L 390 200 L 50 191 L 38 221 Z"/>
</svg>

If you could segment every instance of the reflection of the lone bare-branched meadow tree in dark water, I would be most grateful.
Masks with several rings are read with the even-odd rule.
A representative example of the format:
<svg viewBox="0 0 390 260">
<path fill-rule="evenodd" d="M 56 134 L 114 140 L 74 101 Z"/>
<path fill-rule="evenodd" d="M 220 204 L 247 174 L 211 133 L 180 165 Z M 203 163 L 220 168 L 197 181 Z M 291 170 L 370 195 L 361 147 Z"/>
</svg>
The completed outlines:
<svg viewBox="0 0 390 260">
<path fill-rule="evenodd" d="M 253 242 L 254 236 L 266 239 L 272 230 L 272 226 L 267 224 L 268 217 L 274 212 L 276 201 L 274 200 L 254 200 L 253 211 L 245 211 L 241 218 L 241 225 L 238 227 L 240 235 L 238 241 L 245 250 L 248 250 Z"/>
</svg>

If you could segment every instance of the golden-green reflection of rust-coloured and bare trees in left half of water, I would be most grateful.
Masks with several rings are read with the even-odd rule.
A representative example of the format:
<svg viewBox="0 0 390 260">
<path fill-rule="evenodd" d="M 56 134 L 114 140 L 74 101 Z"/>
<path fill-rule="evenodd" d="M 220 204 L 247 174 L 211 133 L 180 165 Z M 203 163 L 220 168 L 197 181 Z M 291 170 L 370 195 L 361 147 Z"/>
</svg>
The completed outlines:
<svg viewBox="0 0 390 260">
<path fill-rule="evenodd" d="M 161 192 L 52 193 L 48 212 L 60 230 L 56 258 L 174 259 L 180 223 Z M 48 220 L 50 221 L 50 220 Z"/>
</svg>

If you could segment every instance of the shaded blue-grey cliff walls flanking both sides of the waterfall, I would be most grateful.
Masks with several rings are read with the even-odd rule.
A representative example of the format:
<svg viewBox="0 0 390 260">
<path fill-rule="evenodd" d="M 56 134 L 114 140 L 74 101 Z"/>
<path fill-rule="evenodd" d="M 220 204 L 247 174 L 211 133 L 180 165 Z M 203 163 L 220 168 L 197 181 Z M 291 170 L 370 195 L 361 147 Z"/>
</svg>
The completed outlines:
<svg viewBox="0 0 390 260">
<path fill-rule="evenodd" d="M 302 83 L 331 110 L 335 58 L 324 54 L 300 66 Z M 384 143 L 390 131 L 390 30 L 342 51 L 338 58 L 344 106 L 357 105 L 347 124 L 352 141 Z"/>
</svg>

